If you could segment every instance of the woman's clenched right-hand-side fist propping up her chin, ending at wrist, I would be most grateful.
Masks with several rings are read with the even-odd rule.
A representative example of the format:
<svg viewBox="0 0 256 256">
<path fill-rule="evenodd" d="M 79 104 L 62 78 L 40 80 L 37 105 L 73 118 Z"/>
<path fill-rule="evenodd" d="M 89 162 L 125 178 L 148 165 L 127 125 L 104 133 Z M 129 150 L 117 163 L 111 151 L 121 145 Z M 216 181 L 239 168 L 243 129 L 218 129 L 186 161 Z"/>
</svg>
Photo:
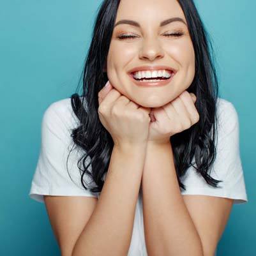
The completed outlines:
<svg viewBox="0 0 256 256">
<path fill-rule="evenodd" d="M 195 108 L 197 97 L 183 91 L 176 99 L 162 107 L 151 110 L 149 124 L 149 142 L 165 143 L 176 133 L 183 132 L 199 121 Z"/>
</svg>

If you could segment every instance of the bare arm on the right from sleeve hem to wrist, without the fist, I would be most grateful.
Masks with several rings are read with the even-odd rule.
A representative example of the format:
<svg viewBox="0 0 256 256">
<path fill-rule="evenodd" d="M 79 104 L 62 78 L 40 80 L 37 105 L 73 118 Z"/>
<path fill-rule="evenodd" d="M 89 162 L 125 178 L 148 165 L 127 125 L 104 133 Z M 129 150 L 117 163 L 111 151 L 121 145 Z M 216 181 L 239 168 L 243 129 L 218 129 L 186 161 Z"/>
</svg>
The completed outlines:
<svg viewBox="0 0 256 256">
<path fill-rule="evenodd" d="M 170 144 L 147 144 L 142 192 L 148 255 L 215 254 L 233 200 L 181 195 Z"/>
</svg>

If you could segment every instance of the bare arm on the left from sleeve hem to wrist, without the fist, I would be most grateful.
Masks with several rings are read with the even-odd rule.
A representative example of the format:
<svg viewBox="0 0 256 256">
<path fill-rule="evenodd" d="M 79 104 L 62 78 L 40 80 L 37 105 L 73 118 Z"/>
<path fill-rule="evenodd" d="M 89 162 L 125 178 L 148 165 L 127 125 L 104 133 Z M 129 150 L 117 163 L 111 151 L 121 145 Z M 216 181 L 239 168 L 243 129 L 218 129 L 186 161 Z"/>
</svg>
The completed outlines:
<svg viewBox="0 0 256 256">
<path fill-rule="evenodd" d="M 127 255 L 146 145 L 113 147 L 100 198 L 45 195 L 62 256 Z"/>
</svg>

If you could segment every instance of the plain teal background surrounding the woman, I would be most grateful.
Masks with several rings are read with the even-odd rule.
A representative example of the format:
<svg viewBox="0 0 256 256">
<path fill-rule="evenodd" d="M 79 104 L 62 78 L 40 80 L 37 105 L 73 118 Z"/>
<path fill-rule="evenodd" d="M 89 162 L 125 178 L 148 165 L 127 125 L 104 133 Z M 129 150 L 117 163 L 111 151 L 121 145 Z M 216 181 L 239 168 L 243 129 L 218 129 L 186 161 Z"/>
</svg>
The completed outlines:
<svg viewBox="0 0 256 256">
<path fill-rule="evenodd" d="M 0 7 L 0 255 L 60 255 L 45 206 L 29 198 L 48 105 L 77 89 L 102 1 L 3 1 Z M 220 97 L 236 107 L 248 204 L 235 205 L 218 256 L 255 255 L 254 0 L 197 6 L 213 38 Z"/>
</svg>

